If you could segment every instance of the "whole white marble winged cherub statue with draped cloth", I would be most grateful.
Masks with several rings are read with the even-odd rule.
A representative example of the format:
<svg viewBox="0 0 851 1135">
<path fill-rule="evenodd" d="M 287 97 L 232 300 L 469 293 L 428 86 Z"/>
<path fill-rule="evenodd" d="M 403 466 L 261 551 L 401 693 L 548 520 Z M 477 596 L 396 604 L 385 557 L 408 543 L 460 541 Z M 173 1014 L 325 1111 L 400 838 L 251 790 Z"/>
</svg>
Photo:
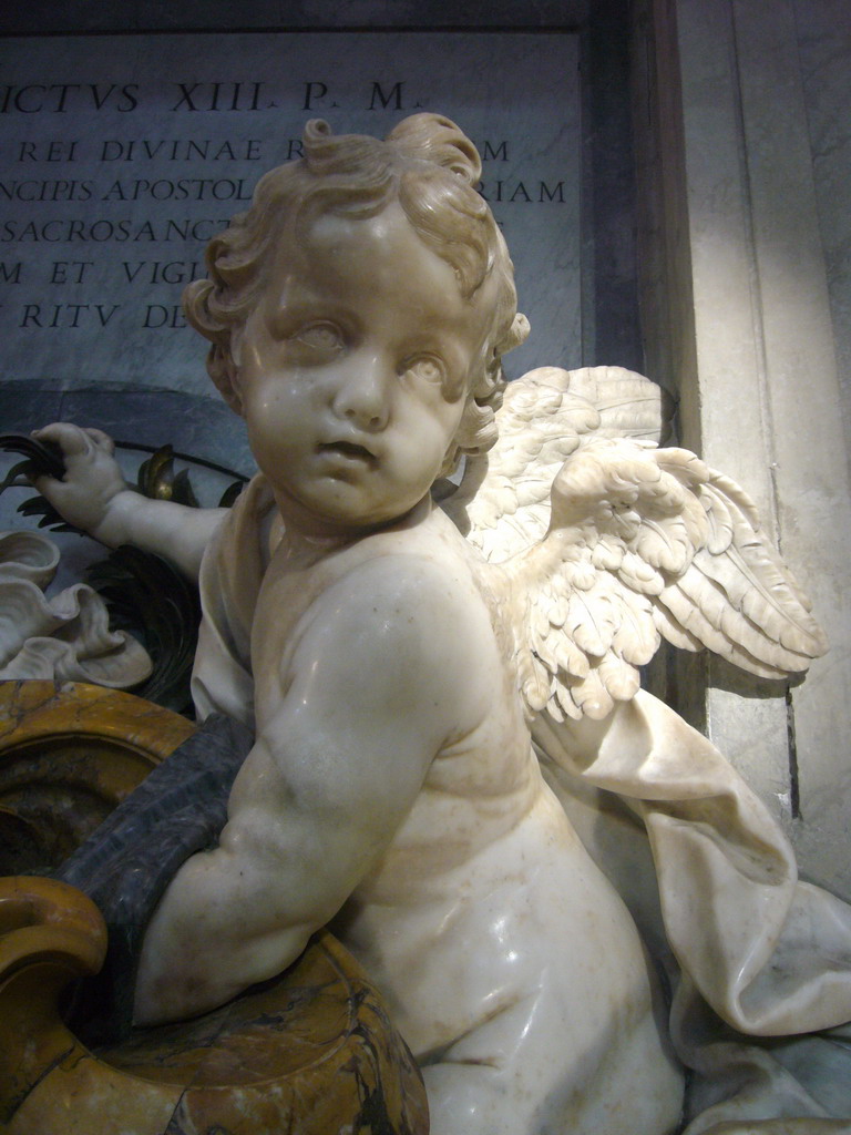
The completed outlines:
<svg viewBox="0 0 851 1135">
<path fill-rule="evenodd" d="M 144 499 L 99 432 L 42 431 L 67 474 L 39 488 L 69 521 L 200 570 L 199 712 L 255 732 L 219 846 L 148 927 L 136 1017 L 218 1006 L 330 923 L 435 1135 L 663 1135 L 679 1057 L 701 1058 L 541 766 L 644 819 L 681 1025 L 702 999 L 753 1033 L 834 1025 L 846 908 L 795 882 L 761 805 L 638 678 L 660 634 L 766 674 L 824 640 L 741 490 L 656 446 L 652 384 L 506 388 L 528 325 L 479 173 L 438 116 L 384 142 L 310 123 L 213 239 L 185 306 L 261 470 L 230 513 Z"/>
</svg>

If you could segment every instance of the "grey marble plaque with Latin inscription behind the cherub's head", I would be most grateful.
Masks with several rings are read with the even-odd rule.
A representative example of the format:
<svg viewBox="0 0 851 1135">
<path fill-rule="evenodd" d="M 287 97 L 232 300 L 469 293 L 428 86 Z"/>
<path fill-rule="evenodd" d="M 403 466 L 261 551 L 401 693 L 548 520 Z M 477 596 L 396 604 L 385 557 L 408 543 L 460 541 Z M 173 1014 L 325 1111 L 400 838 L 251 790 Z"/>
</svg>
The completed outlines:
<svg viewBox="0 0 851 1135">
<path fill-rule="evenodd" d="M 203 249 L 307 118 L 384 136 L 454 118 L 483 158 L 531 343 L 581 363 L 575 35 L 280 33 L 7 40 L 0 77 L 6 380 L 213 394 L 180 311 Z"/>
</svg>

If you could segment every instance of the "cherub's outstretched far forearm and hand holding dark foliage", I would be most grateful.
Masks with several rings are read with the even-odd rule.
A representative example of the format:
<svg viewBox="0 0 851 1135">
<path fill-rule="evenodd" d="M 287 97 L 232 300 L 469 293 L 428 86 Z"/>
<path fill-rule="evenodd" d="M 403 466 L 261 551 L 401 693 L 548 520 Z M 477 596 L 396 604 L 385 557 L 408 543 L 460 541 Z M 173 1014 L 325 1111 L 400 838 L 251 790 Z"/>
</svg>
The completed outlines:
<svg viewBox="0 0 851 1135">
<path fill-rule="evenodd" d="M 112 455 L 115 444 L 101 430 L 54 422 L 35 436 L 62 451 L 65 478 L 40 477 L 35 487 L 68 523 L 110 548 L 135 544 L 155 552 L 197 579 L 204 548 L 226 510 L 188 508 L 128 489 Z"/>
</svg>

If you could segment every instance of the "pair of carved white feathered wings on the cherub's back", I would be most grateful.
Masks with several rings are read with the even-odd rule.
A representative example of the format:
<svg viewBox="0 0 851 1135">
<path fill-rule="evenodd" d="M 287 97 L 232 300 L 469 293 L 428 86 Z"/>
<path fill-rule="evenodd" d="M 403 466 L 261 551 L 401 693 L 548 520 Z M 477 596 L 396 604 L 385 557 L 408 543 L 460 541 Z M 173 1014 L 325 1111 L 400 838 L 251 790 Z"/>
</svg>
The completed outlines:
<svg viewBox="0 0 851 1135">
<path fill-rule="evenodd" d="M 614 368 L 520 382 L 487 477 L 456 507 L 508 581 L 531 713 L 606 716 L 634 696 L 662 637 L 766 678 L 825 651 L 747 495 L 694 454 L 647 439 L 660 420 L 652 384 Z"/>
</svg>

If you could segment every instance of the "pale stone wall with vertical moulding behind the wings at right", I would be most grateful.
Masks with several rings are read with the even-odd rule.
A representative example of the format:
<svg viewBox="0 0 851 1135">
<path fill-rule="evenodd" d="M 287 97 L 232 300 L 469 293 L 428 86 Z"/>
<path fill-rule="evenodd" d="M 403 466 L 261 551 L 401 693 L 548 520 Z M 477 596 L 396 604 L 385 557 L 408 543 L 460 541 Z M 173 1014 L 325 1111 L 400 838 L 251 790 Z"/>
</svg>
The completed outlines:
<svg viewBox="0 0 851 1135">
<path fill-rule="evenodd" d="M 648 370 L 680 392 L 683 443 L 753 496 L 832 641 L 803 683 L 706 659 L 679 667 L 680 697 L 785 823 L 803 873 L 848 897 L 842 28 L 848 2 L 640 5 L 634 109 Z"/>
</svg>

